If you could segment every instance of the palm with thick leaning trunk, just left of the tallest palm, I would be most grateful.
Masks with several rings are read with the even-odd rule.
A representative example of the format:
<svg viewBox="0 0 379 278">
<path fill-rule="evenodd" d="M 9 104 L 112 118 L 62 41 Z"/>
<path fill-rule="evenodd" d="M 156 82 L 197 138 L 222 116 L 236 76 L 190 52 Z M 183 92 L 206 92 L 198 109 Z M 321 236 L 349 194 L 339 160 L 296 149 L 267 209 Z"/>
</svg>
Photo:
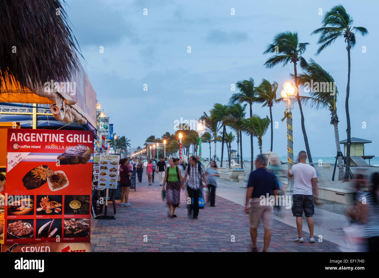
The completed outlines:
<svg viewBox="0 0 379 278">
<path fill-rule="evenodd" d="M 330 93 L 330 90 L 325 90 L 326 85 L 335 84 L 333 77 L 319 64 L 310 59 L 309 64 L 303 68 L 304 72 L 301 73 L 299 78 L 299 84 L 305 86 L 310 90 L 310 96 L 301 96 L 300 99 L 304 103 L 310 103 L 312 107 L 328 108 L 330 110 L 331 120 L 330 124 L 334 126 L 334 138 L 337 148 L 337 153 L 341 153 L 340 136 L 338 134 L 338 116 L 337 116 L 337 94 L 338 90 L 335 87 L 335 91 Z M 311 88 L 311 84 L 317 84 Z M 320 85 L 321 84 L 321 85 Z M 338 180 L 344 180 L 345 175 L 343 172 L 342 157 L 338 156 Z"/>
</svg>

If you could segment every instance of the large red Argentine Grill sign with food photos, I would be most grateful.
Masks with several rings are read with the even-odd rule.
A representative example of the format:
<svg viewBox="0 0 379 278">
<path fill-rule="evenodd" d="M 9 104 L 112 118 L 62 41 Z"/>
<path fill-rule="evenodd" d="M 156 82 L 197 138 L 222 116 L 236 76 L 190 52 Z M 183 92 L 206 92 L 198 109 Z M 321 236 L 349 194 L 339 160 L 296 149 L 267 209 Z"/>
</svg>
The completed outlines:
<svg viewBox="0 0 379 278">
<path fill-rule="evenodd" d="M 89 242 L 93 132 L 9 129 L 4 244 Z"/>
</svg>

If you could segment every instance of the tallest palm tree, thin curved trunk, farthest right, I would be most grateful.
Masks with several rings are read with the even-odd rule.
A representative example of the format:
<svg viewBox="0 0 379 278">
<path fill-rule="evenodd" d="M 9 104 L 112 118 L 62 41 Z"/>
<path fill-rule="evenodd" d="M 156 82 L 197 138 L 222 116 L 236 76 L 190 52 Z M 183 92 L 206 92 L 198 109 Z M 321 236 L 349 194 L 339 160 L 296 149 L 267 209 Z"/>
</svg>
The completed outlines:
<svg viewBox="0 0 379 278">
<path fill-rule="evenodd" d="M 312 34 L 321 33 L 318 43 L 321 47 L 317 50 L 319 54 L 324 48 L 331 45 L 338 37 L 344 37 L 347 43 L 346 50 L 348 51 L 348 84 L 346 85 L 346 121 L 347 121 L 347 148 L 346 148 L 346 170 L 345 180 L 349 179 L 350 169 L 350 147 L 351 147 L 351 127 L 350 127 L 350 115 L 349 115 L 349 94 L 350 94 L 350 49 L 356 44 L 355 33 L 360 33 L 362 36 L 368 34 L 368 31 L 364 27 L 352 26 L 354 20 L 346 12 L 342 5 L 333 7 L 327 12 L 323 19 L 323 27 L 316 29 Z"/>
</svg>

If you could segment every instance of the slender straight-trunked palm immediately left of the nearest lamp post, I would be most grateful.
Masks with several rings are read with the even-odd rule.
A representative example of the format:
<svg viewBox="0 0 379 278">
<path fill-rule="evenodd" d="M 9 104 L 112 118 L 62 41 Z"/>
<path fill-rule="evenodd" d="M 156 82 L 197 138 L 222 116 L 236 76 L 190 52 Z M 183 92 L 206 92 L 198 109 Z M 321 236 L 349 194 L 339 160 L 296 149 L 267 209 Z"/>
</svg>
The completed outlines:
<svg viewBox="0 0 379 278">
<path fill-rule="evenodd" d="M 272 107 L 274 103 L 282 101 L 282 98 L 276 98 L 276 90 L 278 89 L 278 82 L 274 81 L 271 84 L 268 80 L 263 79 L 262 83 L 255 88 L 258 93 L 257 102 L 263 103 L 263 106 L 268 106 L 270 109 L 270 121 L 271 121 L 271 146 L 270 151 L 273 151 L 273 138 L 274 138 L 274 129 L 273 129 L 273 112 Z"/>
</svg>

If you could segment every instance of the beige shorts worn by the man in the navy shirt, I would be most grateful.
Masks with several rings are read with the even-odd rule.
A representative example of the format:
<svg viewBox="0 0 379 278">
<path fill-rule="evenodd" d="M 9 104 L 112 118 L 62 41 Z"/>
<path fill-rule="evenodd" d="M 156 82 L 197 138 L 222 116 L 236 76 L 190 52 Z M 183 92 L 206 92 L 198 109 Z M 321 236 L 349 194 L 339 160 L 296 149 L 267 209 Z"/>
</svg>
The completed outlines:
<svg viewBox="0 0 379 278">
<path fill-rule="evenodd" d="M 260 199 L 253 198 L 250 202 L 250 227 L 257 229 L 261 218 L 263 219 L 263 228 L 271 229 L 273 206 L 261 206 Z"/>
</svg>

